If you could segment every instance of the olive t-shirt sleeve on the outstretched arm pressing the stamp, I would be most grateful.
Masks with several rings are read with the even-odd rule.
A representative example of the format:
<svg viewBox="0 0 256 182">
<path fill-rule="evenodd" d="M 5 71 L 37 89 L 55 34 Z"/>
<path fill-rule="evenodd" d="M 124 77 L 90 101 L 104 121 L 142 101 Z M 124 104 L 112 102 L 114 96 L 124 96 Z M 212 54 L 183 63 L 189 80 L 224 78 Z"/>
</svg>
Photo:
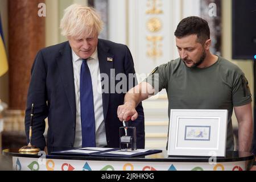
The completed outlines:
<svg viewBox="0 0 256 182">
<path fill-rule="evenodd" d="M 150 75 L 143 80 L 143 82 L 148 82 L 154 89 L 155 94 L 160 92 L 162 89 L 167 88 L 170 64 L 162 64 L 156 67 Z"/>
</svg>

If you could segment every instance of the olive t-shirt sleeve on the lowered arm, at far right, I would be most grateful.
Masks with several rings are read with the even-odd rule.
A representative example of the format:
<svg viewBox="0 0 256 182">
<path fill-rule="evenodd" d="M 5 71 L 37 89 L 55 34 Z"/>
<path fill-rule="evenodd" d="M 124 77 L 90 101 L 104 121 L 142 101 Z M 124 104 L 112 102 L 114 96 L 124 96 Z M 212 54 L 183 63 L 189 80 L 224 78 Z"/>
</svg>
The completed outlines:
<svg viewBox="0 0 256 182">
<path fill-rule="evenodd" d="M 233 106 L 242 106 L 251 102 L 251 92 L 245 74 L 241 71 L 234 76 L 232 86 Z"/>
</svg>

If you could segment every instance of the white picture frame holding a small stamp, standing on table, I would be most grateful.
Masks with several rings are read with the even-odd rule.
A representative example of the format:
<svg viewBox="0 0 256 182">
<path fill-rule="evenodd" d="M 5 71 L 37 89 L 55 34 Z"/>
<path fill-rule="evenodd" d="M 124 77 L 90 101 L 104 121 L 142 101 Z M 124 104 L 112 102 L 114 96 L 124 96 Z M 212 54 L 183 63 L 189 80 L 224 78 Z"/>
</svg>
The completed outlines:
<svg viewBox="0 0 256 182">
<path fill-rule="evenodd" d="M 171 109 L 168 155 L 226 155 L 228 110 Z"/>
</svg>

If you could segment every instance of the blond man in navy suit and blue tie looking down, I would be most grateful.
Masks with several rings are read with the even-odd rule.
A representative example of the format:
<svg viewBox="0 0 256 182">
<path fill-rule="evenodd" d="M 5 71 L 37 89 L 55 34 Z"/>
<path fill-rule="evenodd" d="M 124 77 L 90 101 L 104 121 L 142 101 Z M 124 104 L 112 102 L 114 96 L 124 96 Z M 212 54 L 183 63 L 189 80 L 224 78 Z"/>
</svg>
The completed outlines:
<svg viewBox="0 0 256 182">
<path fill-rule="evenodd" d="M 49 151 L 73 147 L 119 147 L 116 110 L 123 103 L 125 92 L 114 90 L 115 75 L 123 73 L 127 85 L 135 73 L 129 48 L 98 39 L 102 21 L 92 7 L 71 5 L 65 9 L 60 23 L 68 42 L 38 52 L 31 71 L 26 109 L 28 136 L 31 104 L 35 105 L 32 144 L 42 150 L 48 117 L 47 147 Z M 135 80 L 135 81 L 134 81 Z M 104 84 L 103 82 L 104 81 Z M 131 82 L 129 82 L 131 81 Z M 137 127 L 137 147 L 144 148 L 144 114 L 132 122 Z"/>
</svg>

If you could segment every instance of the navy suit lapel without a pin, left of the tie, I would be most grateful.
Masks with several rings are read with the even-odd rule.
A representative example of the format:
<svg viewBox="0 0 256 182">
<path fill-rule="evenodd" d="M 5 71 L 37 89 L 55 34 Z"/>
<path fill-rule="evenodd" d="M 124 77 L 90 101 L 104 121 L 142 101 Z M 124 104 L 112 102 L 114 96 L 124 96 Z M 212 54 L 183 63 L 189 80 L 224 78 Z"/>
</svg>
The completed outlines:
<svg viewBox="0 0 256 182">
<path fill-rule="evenodd" d="M 69 106 L 71 107 L 73 117 L 76 118 L 76 98 L 72 52 L 68 42 L 63 46 L 63 49 L 60 49 L 60 56 L 57 57 L 56 61 L 60 70 L 60 76 L 64 85 L 65 93 L 67 94 Z"/>
</svg>

